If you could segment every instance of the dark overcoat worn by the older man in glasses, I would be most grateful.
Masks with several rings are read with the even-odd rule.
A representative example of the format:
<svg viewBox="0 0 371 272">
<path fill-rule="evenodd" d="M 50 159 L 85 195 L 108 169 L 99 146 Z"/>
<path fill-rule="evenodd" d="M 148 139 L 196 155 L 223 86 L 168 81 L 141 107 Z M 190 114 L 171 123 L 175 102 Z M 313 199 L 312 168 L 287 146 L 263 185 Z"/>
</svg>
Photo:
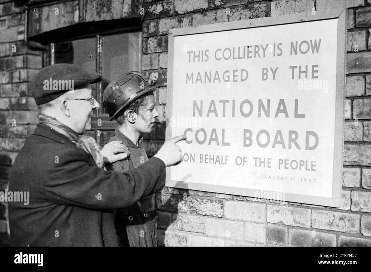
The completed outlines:
<svg viewBox="0 0 371 272">
<path fill-rule="evenodd" d="M 125 173 L 105 171 L 91 155 L 38 124 L 14 162 L 9 191 L 30 202 L 9 202 L 12 246 L 117 246 L 110 209 L 128 207 L 162 190 L 165 164 L 153 157 Z"/>
</svg>

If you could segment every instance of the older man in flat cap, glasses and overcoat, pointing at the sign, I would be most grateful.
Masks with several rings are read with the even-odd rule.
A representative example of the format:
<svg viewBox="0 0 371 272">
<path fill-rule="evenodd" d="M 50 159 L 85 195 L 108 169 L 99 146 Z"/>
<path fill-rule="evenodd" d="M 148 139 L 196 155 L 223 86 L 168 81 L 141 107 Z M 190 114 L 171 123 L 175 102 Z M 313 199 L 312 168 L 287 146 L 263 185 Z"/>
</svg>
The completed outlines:
<svg viewBox="0 0 371 272">
<path fill-rule="evenodd" d="M 54 84 L 65 80 L 73 82 L 73 90 Z M 48 66 L 33 79 L 40 124 L 27 138 L 10 175 L 9 191 L 30 192 L 29 205 L 9 203 L 12 246 L 117 246 L 109 209 L 131 206 L 160 191 L 165 166 L 181 161 L 175 143 L 183 136 L 165 142 L 138 168 L 105 171 L 104 163 L 125 158 L 127 154 L 118 153 L 127 149 L 115 141 L 99 152 L 92 138 L 82 136 L 91 128 L 92 110 L 99 108 L 90 84 L 100 80 L 101 75 L 71 64 Z"/>
</svg>

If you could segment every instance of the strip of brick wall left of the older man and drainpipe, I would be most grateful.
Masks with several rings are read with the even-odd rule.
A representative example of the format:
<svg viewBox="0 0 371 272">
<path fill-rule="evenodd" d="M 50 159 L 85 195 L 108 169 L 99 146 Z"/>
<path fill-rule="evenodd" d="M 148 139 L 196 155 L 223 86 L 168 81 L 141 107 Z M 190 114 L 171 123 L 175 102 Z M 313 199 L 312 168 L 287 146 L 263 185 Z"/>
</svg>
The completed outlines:
<svg viewBox="0 0 371 272">
<path fill-rule="evenodd" d="M 17 152 L 37 124 L 37 107 L 28 82 L 42 68 L 42 53 L 24 43 L 24 12 L 13 1 L 0 0 L 0 190 Z M 6 203 L 0 202 L 0 245 L 9 244 Z"/>
</svg>

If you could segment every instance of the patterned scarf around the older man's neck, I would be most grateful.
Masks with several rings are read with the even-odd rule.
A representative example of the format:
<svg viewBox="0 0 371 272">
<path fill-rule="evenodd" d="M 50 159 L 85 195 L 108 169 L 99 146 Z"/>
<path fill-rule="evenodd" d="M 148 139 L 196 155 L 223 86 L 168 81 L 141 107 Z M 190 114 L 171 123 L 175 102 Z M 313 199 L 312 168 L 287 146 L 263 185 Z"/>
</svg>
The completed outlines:
<svg viewBox="0 0 371 272">
<path fill-rule="evenodd" d="M 79 135 L 71 128 L 67 127 L 66 125 L 59 122 L 57 119 L 45 115 L 39 114 L 37 116 L 39 118 L 40 124 L 45 124 L 48 127 L 51 127 L 56 132 L 66 136 L 73 144 L 75 144 L 78 148 L 81 148 L 86 153 L 92 155 L 95 164 L 99 168 L 104 168 L 103 156 L 99 151 L 101 151 L 101 147 L 95 141 L 94 138 L 86 135 Z"/>
</svg>

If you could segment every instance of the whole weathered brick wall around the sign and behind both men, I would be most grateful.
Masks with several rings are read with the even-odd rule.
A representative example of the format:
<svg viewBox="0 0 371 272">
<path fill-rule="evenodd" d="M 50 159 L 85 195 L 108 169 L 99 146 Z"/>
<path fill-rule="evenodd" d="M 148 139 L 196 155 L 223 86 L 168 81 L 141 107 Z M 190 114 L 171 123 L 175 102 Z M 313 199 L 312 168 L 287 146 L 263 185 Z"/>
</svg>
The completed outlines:
<svg viewBox="0 0 371 272">
<path fill-rule="evenodd" d="M 122 13 L 117 12 L 115 5 L 123 7 L 120 3 L 124 2 L 127 6 Z M 150 1 L 143 2 L 147 7 Z M 91 4 L 88 1 L 69 3 L 65 3 L 66 12 L 60 13 L 65 19 L 49 22 L 47 16 L 35 18 L 39 27 L 31 27 L 33 33 L 78 22 L 135 17 L 140 10 L 135 1 L 107 0 L 108 4 L 101 10 L 96 6 L 86 9 L 86 5 Z M 310 13 L 313 7 L 331 10 L 341 4 L 348 7 L 348 34 L 344 172 L 339 209 L 165 187 L 156 198 L 161 245 L 371 246 L 371 0 L 156 2 L 142 24 L 142 70 L 160 85 L 155 92 L 160 117 L 154 132 L 146 135 L 145 147 L 148 154 L 153 155 L 165 138 L 169 29 L 258 17 L 272 17 L 274 21 L 275 16 L 282 14 Z M 48 7 L 49 11 L 52 7 Z M 94 9 L 96 12 L 91 11 Z M 45 10 L 37 10 L 37 13 L 48 14 Z M 22 9 L 14 7 L 13 2 L 0 0 L 0 19 L 3 17 L 13 23 L 0 30 L 2 189 L 7 184 L 17 150 L 35 127 L 35 104 L 27 97 L 27 81 L 35 69 L 41 67 L 40 53 L 22 47 Z M 2 38 L 3 33 L 6 40 Z M 13 44 L 17 45 L 17 52 L 11 51 Z M 12 126 L 13 119 L 17 120 L 16 127 Z M 111 133 L 101 131 L 101 143 Z M 97 134 L 92 132 L 92 135 Z M 0 245 L 7 244 L 8 232 L 6 209 L 0 204 Z"/>
</svg>

